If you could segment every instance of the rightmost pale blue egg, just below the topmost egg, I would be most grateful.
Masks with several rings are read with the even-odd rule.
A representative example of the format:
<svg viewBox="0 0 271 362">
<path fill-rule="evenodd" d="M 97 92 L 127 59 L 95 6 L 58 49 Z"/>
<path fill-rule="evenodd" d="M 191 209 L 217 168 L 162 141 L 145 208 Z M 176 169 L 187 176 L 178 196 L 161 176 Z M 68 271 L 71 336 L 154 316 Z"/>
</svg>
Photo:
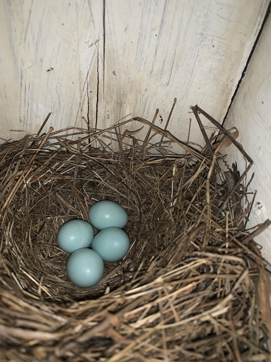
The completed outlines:
<svg viewBox="0 0 271 362">
<path fill-rule="evenodd" d="M 92 249 L 107 262 L 121 260 L 128 253 L 129 248 L 128 234 L 117 227 L 108 227 L 99 231 L 92 242 Z"/>
</svg>

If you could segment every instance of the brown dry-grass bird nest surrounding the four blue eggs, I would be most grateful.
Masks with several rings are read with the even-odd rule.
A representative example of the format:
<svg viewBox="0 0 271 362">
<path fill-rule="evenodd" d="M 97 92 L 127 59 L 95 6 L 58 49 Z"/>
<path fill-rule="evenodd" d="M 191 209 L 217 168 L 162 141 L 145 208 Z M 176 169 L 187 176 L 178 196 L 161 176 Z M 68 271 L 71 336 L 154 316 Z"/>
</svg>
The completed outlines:
<svg viewBox="0 0 271 362">
<path fill-rule="evenodd" d="M 192 111 L 203 148 L 155 126 L 158 110 L 152 123 L 41 128 L 0 146 L 1 361 L 270 360 L 270 283 L 253 241 L 270 222 L 246 230 L 252 161 Z M 215 146 L 199 114 L 224 135 Z M 121 131 L 129 122 L 146 137 Z M 219 152 L 225 142 L 248 161 L 241 176 Z M 69 219 L 88 220 L 101 199 L 128 212 L 131 248 L 81 289 L 66 276 L 56 234 Z"/>
</svg>

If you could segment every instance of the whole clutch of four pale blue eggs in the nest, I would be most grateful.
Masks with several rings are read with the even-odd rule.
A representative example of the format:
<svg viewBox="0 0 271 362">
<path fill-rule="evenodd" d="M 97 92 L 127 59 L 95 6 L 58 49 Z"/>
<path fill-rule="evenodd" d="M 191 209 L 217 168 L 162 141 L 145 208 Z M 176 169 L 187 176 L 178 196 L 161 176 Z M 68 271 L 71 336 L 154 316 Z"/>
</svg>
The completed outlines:
<svg viewBox="0 0 271 362">
<path fill-rule="evenodd" d="M 67 221 L 57 233 L 59 247 L 71 253 L 66 264 L 68 278 L 82 288 L 92 287 L 102 279 L 104 261 L 119 261 L 130 248 L 129 236 L 122 230 L 128 215 L 121 205 L 98 201 L 89 209 L 89 220 L 100 230 L 95 236 L 91 224 L 81 219 Z"/>
</svg>

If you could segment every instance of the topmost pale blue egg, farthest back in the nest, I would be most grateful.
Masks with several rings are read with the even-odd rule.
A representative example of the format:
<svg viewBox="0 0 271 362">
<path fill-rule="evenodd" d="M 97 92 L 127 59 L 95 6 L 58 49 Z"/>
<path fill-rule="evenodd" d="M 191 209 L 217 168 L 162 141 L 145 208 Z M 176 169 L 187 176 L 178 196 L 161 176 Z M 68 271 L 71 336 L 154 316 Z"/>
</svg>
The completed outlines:
<svg viewBox="0 0 271 362">
<path fill-rule="evenodd" d="M 110 200 L 95 202 L 89 209 L 89 221 L 98 230 L 115 226 L 123 228 L 128 222 L 126 210 Z"/>
</svg>

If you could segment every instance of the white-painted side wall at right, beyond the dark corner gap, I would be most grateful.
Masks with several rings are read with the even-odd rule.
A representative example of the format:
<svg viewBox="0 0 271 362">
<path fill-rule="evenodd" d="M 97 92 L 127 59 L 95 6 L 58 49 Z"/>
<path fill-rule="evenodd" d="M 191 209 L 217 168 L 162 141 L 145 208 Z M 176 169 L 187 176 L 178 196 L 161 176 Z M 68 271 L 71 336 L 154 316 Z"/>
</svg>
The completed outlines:
<svg viewBox="0 0 271 362">
<path fill-rule="evenodd" d="M 248 180 L 254 172 L 250 191 L 257 190 L 257 194 L 248 227 L 271 219 L 270 34 L 271 17 L 264 26 L 224 125 L 227 129 L 237 127 L 237 140 L 254 161 Z M 240 153 L 236 153 L 235 147 L 231 146 L 225 152 L 228 154 L 228 162 L 231 164 L 236 161 L 239 170 L 244 171 L 244 159 Z M 262 245 L 263 256 L 271 262 L 271 228 L 261 233 L 255 241 Z"/>
</svg>

